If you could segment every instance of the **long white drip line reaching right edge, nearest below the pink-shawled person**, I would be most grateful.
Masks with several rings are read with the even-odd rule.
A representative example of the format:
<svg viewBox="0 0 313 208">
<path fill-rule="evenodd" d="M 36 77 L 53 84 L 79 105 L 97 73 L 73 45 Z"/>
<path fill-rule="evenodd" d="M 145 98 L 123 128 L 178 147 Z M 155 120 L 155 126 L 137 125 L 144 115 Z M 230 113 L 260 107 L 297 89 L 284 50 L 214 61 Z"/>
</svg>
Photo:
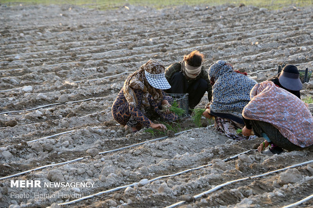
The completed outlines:
<svg viewBox="0 0 313 208">
<path fill-rule="evenodd" d="M 239 178 L 239 179 L 236 179 L 236 180 L 233 180 L 233 181 L 228 181 L 226 183 L 223 183 L 223 184 L 220 184 L 220 185 L 217 185 L 215 186 L 214 188 L 211 188 L 210 190 L 207 190 L 207 191 L 204 191 L 202 193 L 199 193 L 197 195 L 194 195 L 193 197 L 195 199 L 197 198 L 200 198 L 202 197 L 203 195 L 205 194 L 208 194 L 208 193 L 212 193 L 226 185 L 229 185 L 229 184 L 232 184 L 232 183 L 235 183 L 235 182 L 239 182 L 239 181 L 244 181 L 244 180 L 248 180 L 248 179 L 253 179 L 253 178 L 258 178 L 258 177 L 263 177 L 263 176 L 267 176 L 267 175 L 270 175 L 272 173 L 276 173 L 276 172 L 279 172 L 279 171 L 283 171 L 283 170 L 287 170 L 289 168 L 294 168 L 294 167 L 297 167 L 297 166 L 301 166 L 301 165 L 305 165 L 305 164 L 308 164 L 308 163 L 312 163 L 313 160 L 310 160 L 310 161 L 306 161 L 306 162 L 303 162 L 303 163 L 298 163 L 298 164 L 295 164 L 295 165 L 291 165 L 291 166 L 288 166 L 286 168 L 281 168 L 281 169 L 278 169 L 278 170 L 273 170 L 273 171 L 270 171 L 270 172 L 267 172 L 267 173 L 263 173 L 263 174 L 259 174 L 259 175 L 254 175 L 254 176 L 250 176 L 250 177 L 245 177 L 245 178 Z M 166 206 L 165 208 L 173 208 L 173 207 L 176 207 L 178 205 L 181 205 L 183 203 L 185 203 L 186 201 L 179 201 L 177 203 L 174 203 L 172 205 L 169 205 L 169 206 Z"/>
</svg>

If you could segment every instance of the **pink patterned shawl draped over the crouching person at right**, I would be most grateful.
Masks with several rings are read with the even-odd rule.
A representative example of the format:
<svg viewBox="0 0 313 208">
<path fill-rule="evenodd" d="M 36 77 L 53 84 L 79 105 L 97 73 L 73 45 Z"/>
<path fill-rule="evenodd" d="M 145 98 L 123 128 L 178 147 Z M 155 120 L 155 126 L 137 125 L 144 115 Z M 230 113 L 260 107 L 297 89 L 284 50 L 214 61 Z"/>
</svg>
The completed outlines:
<svg viewBox="0 0 313 208">
<path fill-rule="evenodd" d="M 265 81 L 252 88 L 250 98 L 244 118 L 272 124 L 296 146 L 313 144 L 313 116 L 297 96 Z"/>
</svg>

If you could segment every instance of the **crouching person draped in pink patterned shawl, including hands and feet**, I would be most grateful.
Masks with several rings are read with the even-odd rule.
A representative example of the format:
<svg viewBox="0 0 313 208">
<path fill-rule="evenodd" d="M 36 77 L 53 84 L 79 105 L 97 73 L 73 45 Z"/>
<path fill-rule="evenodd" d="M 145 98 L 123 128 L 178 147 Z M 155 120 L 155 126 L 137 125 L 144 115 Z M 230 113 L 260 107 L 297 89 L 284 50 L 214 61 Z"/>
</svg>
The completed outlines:
<svg viewBox="0 0 313 208">
<path fill-rule="evenodd" d="M 271 81 L 256 84 L 250 92 L 251 101 L 244 107 L 243 135 L 251 129 L 266 138 L 257 148 L 263 155 L 302 150 L 313 144 L 313 116 L 303 101 Z M 269 149 L 265 150 L 266 147 Z"/>
</svg>

